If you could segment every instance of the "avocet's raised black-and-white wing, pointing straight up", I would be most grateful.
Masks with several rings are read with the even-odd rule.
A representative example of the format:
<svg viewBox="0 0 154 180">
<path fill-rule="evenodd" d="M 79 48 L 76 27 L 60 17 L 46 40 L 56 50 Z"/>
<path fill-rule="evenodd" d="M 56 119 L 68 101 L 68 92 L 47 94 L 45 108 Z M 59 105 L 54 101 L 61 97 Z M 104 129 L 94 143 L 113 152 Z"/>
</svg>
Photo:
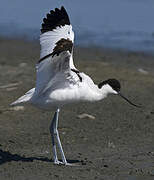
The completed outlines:
<svg viewBox="0 0 154 180">
<path fill-rule="evenodd" d="M 36 91 L 42 91 L 57 74 L 72 76 L 74 32 L 64 7 L 51 10 L 43 19 L 40 60 L 36 65 Z M 69 78 L 68 78 L 69 79 Z"/>
</svg>

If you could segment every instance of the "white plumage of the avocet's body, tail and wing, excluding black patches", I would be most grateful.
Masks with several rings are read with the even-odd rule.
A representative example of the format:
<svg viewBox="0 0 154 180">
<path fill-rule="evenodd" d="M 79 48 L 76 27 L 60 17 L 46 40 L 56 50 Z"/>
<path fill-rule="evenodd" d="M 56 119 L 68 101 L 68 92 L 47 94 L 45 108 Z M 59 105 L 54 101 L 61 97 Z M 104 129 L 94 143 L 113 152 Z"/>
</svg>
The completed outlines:
<svg viewBox="0 0 154 180">
<path fill-rule="evenodd" d="M 36 87 L 12 105 L 26 102 L 51 110 L 75 101 L 94 101 L 103 98 L 101 90 L 89 76 L 79 72 L 81 82 L 77 73 L 71 70 L 78 71 L 73 63 L 73 51 L 69 52 L 66 49 L 58 55 L 50 55 L 54 52 L 56 43 L 61 39 L 74 42 L 71 25 L 57 26 L 52 31 L 40 35 L 40 59 L 45 58 L 36 64 Z"/>
</svg>

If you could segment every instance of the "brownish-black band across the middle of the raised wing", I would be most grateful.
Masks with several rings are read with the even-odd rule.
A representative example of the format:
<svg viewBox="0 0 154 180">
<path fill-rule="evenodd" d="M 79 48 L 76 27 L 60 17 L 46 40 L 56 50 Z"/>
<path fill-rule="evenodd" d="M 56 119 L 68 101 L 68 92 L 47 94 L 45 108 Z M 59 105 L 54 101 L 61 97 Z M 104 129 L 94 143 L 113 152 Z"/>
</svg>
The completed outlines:
<svg viewBox="0 0 154 180">
<path fill-rule="evenodd" d="M 56 42 L 56 46 L 53 49 L 53 52 L 42 57 L 38 63 L 42 62 L 44 59 L 52 56 L 54 57 L 55 55 L 59 56 L 59 54 L 63 51 L 69 51 L 70 53 L 72 52 L 72 48 L 73 48 L 73 42 L 71 40 L 67 39 L 60 39 L 59 41 Z"/>
</svg>

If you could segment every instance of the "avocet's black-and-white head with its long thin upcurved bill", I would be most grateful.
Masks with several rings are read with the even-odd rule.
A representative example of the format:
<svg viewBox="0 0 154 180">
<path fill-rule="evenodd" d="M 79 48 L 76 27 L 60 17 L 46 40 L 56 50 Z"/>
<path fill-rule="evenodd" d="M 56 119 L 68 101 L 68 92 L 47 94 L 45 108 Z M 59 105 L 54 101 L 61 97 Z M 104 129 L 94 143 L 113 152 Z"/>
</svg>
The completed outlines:
<svg viewBox="0 0 154 180">
<path fill-rule="evenodd" d="M 98 88 L 102 90 L 104 94 L 116 94 L 125 99 L 127 102 L 129 102 L 131 105 L 140 107 L 134 103 L 132 103 L 129 99 L 127 99 L 122 93 L 120 82 L 116 79 L 108 79 L 98 84 Z"/>
</svg>

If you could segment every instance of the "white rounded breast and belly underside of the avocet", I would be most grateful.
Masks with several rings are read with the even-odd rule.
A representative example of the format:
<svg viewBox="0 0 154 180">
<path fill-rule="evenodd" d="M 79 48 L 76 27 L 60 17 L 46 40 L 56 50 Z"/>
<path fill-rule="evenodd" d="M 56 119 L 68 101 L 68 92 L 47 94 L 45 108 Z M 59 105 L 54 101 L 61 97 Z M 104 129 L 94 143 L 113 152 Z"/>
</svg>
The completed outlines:
<svg viewBox="0 0 154 180">
<path fill-rule="evenodd" d="M 99 101 L 101 98 L 101 94 L 96 90 L 81 84 L 80 86 L 56 89 L 52 92 L 48 91 L 34 99 L 33 104 L 43 109 L 52 109 L 81 101 Z"/>
</svg>

